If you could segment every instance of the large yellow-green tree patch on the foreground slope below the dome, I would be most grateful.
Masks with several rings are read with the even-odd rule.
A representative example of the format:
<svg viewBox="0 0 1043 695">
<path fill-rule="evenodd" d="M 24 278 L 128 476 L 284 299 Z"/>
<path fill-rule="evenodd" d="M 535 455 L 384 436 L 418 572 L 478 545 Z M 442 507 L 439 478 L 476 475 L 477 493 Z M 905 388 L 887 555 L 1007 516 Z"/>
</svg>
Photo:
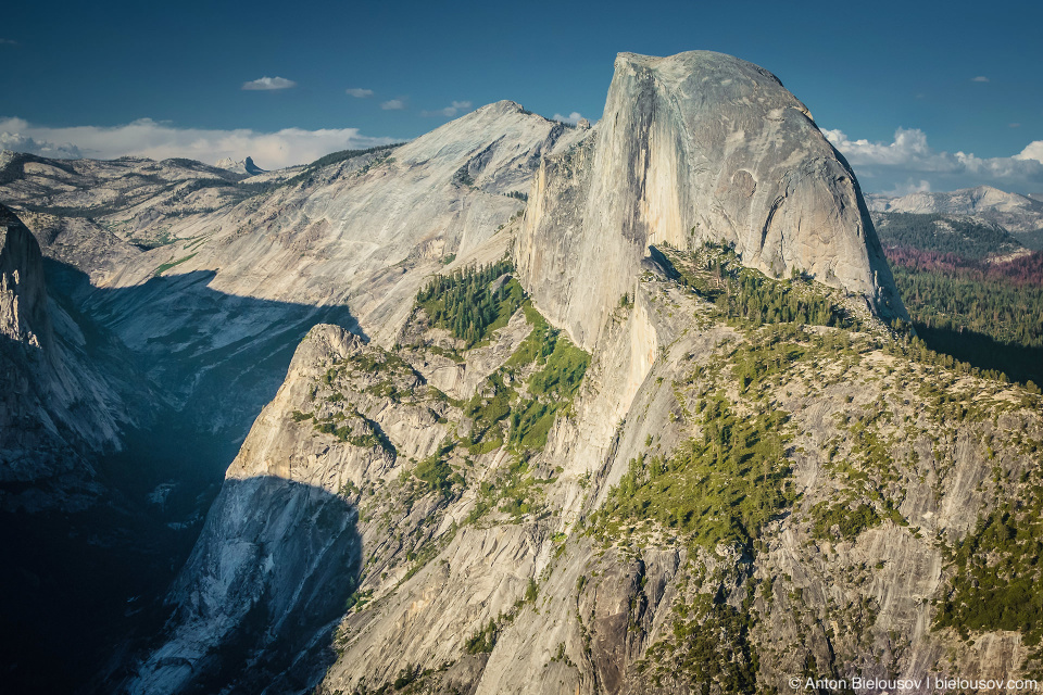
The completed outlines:
<svg viewBox="0 0 1043 695">
<path fill-rule="evenodd" d="M 739 415 L 721 394 L 701 401 L 702 437 L 668 459 L 642 454 L 595 515 L 604 540 L 623 523 L 654 521 L 689 535 L 693 546 L 751 545 L 794 498 L 789 489 L 780 410 Z"/>
</svg>

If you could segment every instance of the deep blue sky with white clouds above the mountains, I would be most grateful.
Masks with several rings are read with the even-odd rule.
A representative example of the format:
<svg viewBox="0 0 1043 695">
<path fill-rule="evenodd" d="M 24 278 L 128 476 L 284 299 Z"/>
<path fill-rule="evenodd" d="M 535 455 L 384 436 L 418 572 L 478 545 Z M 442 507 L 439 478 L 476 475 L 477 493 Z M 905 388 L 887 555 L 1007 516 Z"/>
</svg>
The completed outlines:
<svg viewBox="0 0 1043 695">
<path fill-rule="evenodd" d="M 617 52 L 708 49 L 778 75 L 867 190 L 1038 192 L 1041 26 L 1040 2 L 958 0 L 17 3 L 0 25 L 0 137 L 274 167 L 500 99 L 596 121 Z"/>
</svg>

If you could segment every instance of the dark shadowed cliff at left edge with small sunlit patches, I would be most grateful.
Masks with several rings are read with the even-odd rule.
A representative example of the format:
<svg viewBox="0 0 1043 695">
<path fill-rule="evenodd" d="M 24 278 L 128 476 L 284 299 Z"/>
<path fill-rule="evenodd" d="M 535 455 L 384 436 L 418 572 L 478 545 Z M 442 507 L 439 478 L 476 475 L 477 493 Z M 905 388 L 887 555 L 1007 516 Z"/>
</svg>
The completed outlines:
<svg viewBox="0 0 1043 695">
<path fill-rule="evenodd" d="M 0 205 L 0 507 L 75 510 L 100 488 L 90 455 L 130 421 L 77 324 L 48 295 L 34 236 Z"/>
</svg>

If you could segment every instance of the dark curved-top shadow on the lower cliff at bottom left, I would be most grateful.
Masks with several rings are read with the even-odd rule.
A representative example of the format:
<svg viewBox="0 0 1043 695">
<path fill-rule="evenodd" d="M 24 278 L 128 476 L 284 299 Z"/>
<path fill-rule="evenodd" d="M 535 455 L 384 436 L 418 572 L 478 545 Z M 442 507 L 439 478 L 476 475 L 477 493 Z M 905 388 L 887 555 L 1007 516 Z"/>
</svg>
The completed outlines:
<svg viewBox="0 0 1043 695">
<path fill-rule="evenodd" d="M 359 582 L 356 521 L 351 504 L 321 488 L 226 480 L 172 585 L 165 627 L 98 691 L 310 690 L 336 659 L 334 633 Z"/>
</svg>

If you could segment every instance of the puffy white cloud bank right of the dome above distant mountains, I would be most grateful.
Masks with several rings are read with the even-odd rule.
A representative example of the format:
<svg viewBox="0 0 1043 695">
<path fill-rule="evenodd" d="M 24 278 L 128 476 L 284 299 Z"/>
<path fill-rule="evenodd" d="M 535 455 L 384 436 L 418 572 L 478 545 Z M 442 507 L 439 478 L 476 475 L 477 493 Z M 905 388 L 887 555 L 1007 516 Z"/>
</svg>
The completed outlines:
<svg viewBox="0 0 1043 695">
<path fill-rule="evenodd" d="M 852 140 L 841 130 L 822 130 L 840 150 L 859 178 L 870 179 L 875 190 L 889 184 L 930 175 L 934 190 L 990 184 L 1008 188 L 1038 188 L 1043 184 L 1043 141 L 1032 142 L 1014 156 L 979 157 L 965 152 L 939 152 L 918 128 L 899 128 L 892 142 Z"/>
</svg>

